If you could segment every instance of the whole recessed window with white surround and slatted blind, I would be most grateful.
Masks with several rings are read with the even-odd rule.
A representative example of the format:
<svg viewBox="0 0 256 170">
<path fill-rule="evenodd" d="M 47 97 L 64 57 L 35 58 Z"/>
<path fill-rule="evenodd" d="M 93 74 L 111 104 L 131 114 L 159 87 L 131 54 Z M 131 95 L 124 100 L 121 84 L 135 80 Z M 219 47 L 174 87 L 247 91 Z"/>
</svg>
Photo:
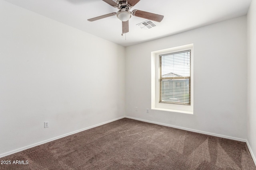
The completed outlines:
<svg viewBox="0 0 256 170">
<path fill-rule="evenodd" d="M 152 52 L 152 109 L 193 113 L 193 45 Z"/>
</svg>

